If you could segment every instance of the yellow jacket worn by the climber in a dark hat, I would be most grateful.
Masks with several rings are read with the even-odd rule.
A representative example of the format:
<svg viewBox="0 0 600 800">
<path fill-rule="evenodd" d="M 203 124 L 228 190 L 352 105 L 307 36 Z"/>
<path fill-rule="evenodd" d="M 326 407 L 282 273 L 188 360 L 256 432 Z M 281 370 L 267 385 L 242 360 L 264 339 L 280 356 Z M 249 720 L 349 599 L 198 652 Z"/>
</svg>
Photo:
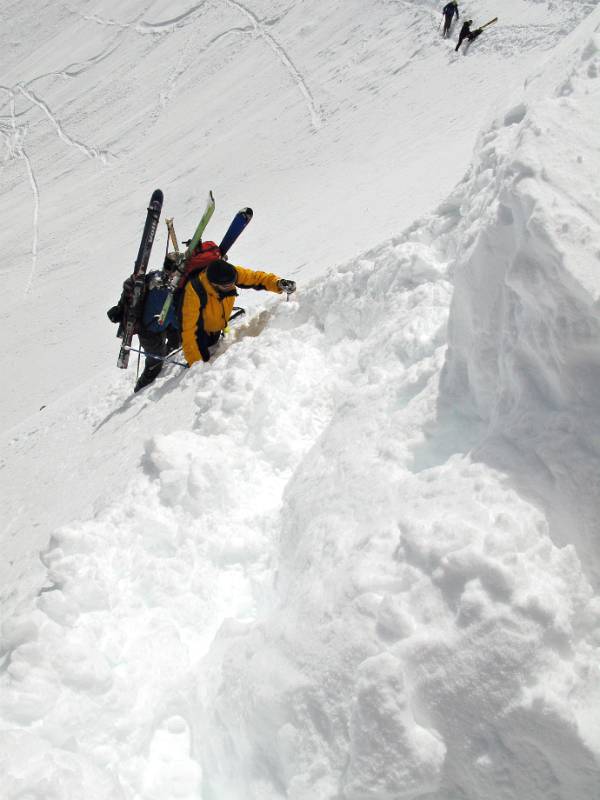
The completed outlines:
<svg viewBox="0 0 600 800">
<path fill-rule="evenodd" d="M 256 272 L 245 267 L 235 267 L 238 289 L 266 289 L 281 294 L 277 286 L 277 275 L 271 272 Z M 227 327 L 237 292 L 225 296 L 219 293 L 200 272 L 186 283 L 181 307 L 181 343 L 185 360 L 191 366 L 196 361 L 208 361 L 208 348 L 216 344 L 221 331 Z"/>
</svg>

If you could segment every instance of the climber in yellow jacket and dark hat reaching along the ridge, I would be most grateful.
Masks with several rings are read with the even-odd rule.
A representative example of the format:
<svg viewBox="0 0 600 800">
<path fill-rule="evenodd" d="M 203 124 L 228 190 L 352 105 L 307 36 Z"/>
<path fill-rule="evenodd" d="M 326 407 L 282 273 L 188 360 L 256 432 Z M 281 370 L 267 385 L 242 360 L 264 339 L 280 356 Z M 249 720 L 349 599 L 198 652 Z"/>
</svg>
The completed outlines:
<svg viewBox="0 0 600 800">
<path fill-rule="evenodd" d="M 199 245 L 190 259 L 187 280 L 181 303 L 181 343 L 185 360 L 191 366 L 210 359 L 210 347 L 215 345 L 227 327 L 238 289 L 264 289 L 287 295 L 296 291 L 294 281 L 279 278 L 270 272 L 256 272 L 234 267 L 223 258 L 194 271 L 196 253 L 212 242 Z M 214 245 L 218 252 L 218 248 Z"/>
</svg>

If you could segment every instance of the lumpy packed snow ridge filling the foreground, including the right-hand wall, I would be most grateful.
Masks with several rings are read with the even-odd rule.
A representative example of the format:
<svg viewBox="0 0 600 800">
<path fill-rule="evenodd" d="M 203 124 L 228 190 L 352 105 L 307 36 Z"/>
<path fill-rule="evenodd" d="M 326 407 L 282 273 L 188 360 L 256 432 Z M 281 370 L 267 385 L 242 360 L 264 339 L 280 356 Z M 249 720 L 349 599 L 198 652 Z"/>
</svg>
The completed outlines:
<svg viewBox="0 0 600 800">
<path fill-rule="evenodd" d="M 5 598 L 9 800 L 600 796 L 599 78 L 596 8 L 435 213 L 89 405 L 144 453 Z"/>
</svg>

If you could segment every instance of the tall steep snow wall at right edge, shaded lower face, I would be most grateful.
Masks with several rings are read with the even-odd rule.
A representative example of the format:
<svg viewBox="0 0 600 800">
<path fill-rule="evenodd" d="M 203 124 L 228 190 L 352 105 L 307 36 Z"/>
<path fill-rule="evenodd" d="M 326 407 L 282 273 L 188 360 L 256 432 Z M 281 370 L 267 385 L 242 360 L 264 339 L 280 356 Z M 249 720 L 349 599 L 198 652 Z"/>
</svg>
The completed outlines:
<svg viewBox="0 0 600 800">
<path fill-rule="evenodd" d="M 600 579 L 598 12 L 481 137 L 454 195 L 455 294 L 441 402 L 485 424 L 509 472 Z"/>
</svg>

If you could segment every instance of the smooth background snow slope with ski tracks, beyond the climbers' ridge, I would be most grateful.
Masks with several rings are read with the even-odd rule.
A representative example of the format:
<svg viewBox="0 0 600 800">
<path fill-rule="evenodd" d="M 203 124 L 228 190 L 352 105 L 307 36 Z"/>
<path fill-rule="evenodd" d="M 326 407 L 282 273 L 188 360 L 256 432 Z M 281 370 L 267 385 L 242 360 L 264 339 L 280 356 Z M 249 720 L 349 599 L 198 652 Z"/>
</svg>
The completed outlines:
<svg viewBox="0 0 600 800">
<path fill-rule="evenodd" d="M 112 364 L 104 310 L 156 186 L 180 238 L 209 188 L 214 235 L 253 206 L 240 263 L 306 282 L 440 202 L 490 105 L 588 7 L 511 0 L 457 59 L 421 0 L 5 0 L 3 428 Z"/>
</svg>

